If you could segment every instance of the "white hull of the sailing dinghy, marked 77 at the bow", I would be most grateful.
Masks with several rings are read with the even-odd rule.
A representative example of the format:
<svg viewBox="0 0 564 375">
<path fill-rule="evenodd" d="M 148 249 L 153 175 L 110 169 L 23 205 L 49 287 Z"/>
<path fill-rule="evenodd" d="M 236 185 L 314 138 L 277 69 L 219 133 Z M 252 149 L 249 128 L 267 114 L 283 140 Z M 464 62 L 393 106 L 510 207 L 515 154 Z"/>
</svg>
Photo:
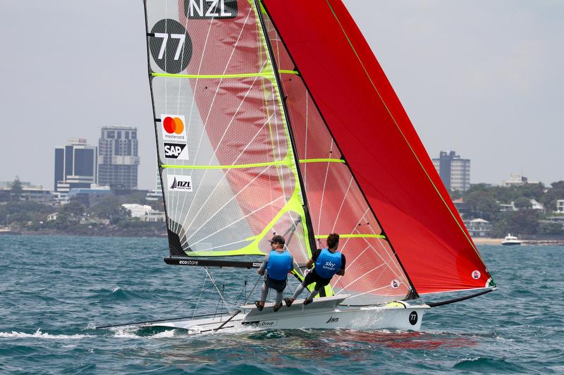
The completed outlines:
<svg viewBox="0 0 564 375">
<path fill-rule="evenodd" d="M 182 328 L 189 333 L 204 333 L 223 329 L 245 328 L 349 328 L 355 330 L 391 329 L 419 331 L 427 305 L 409 305 L 407 302 L 393 302 L 386 306 L 341 307 L 343 297 L 326 297 L 304 306 L 303 300 L 296 300 L 291 307 L 285 305 L 274 312 L 268 303 L 262 312 L 254 305 L 243 306 L 249 312 L 241 312 L 223 325 L 231 316 L 197 320 L 161 321 L 145 324 L 145 327 Z M 222 326 L 223 325 L 223 326 Z"/>
</svg>

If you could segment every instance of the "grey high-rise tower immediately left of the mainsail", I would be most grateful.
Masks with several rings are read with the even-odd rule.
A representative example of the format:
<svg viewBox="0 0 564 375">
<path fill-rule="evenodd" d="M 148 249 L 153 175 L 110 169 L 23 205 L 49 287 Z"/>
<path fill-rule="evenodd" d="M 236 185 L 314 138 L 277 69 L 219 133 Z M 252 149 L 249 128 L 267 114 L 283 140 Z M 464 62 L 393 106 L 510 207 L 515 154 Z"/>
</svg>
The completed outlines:
<svg viewBox="0 0 564 375">
<path fill-rule="evenodd" d="M 104 126 L 98 152 L 98 185 L 109 185 L 113 190 L 137 189 L 137 128 Z"/>
</svg>

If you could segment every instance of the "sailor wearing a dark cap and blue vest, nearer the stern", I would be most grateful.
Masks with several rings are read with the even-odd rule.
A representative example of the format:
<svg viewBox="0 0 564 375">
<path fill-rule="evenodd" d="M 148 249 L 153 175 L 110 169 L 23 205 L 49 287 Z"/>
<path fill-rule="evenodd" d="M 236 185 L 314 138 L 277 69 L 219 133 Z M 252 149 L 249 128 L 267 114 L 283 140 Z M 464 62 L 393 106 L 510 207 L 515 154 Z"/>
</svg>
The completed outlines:
<svg viewBox="0 0 564 375">
<path fill-rule="evenodd" d="M 269 240 L 269 242 L 271 245 L 271 251 L 269 254 L 266 254 L 264 261 L 257 270 L 259 275 L 264 275 L 264 271 L 266 269 L 266 276 L 264 277 L 264 283 L 262 284 L 260 300 L 255 301 L 255 305 L 259 311 L 262 311 L 264 301 L 266 301 L 266 295 L 269 293 L 269 288 L 272 288 L 276 290 L 276 304 L 274 305 L 274 311 L 277 312 L 282 306 L 282 292 L 286 288 L 288 272 L 292 271 L 294 268 L 294 258 L 287 249 L 284 249 L 284 243 L 286 243 L 286 240 L 284 240 L 281 235 L 275 235 L 272 240 Z"/>
</svg>

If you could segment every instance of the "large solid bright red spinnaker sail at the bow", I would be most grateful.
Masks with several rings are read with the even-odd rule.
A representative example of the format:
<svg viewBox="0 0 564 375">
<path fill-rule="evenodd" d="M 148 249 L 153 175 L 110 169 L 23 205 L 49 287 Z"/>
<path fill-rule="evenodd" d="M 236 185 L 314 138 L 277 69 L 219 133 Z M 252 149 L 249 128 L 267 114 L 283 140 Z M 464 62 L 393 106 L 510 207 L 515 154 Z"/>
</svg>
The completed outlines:
<svg viewBox="0 0 564 375">
<path fill-rule="evenodd" d="M 345 6 L 264 4 L 417 292 L 484 288 L 490 275 Z"/>
</svg>

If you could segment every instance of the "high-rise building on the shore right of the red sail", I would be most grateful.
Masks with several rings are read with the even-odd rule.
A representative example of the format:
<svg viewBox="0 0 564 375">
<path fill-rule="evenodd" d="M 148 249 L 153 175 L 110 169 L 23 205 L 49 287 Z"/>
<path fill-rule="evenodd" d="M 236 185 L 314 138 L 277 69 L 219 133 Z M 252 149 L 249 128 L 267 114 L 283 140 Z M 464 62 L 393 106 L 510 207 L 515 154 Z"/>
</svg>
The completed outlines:
<svg viewBox="0 0 564 375">
<path fill-rule="evenodd" d="M 433 164 L 447 190 L 470 189 L 470 159 L 461 159 L 454 151 L 441 151 Z"/>
</svg>

